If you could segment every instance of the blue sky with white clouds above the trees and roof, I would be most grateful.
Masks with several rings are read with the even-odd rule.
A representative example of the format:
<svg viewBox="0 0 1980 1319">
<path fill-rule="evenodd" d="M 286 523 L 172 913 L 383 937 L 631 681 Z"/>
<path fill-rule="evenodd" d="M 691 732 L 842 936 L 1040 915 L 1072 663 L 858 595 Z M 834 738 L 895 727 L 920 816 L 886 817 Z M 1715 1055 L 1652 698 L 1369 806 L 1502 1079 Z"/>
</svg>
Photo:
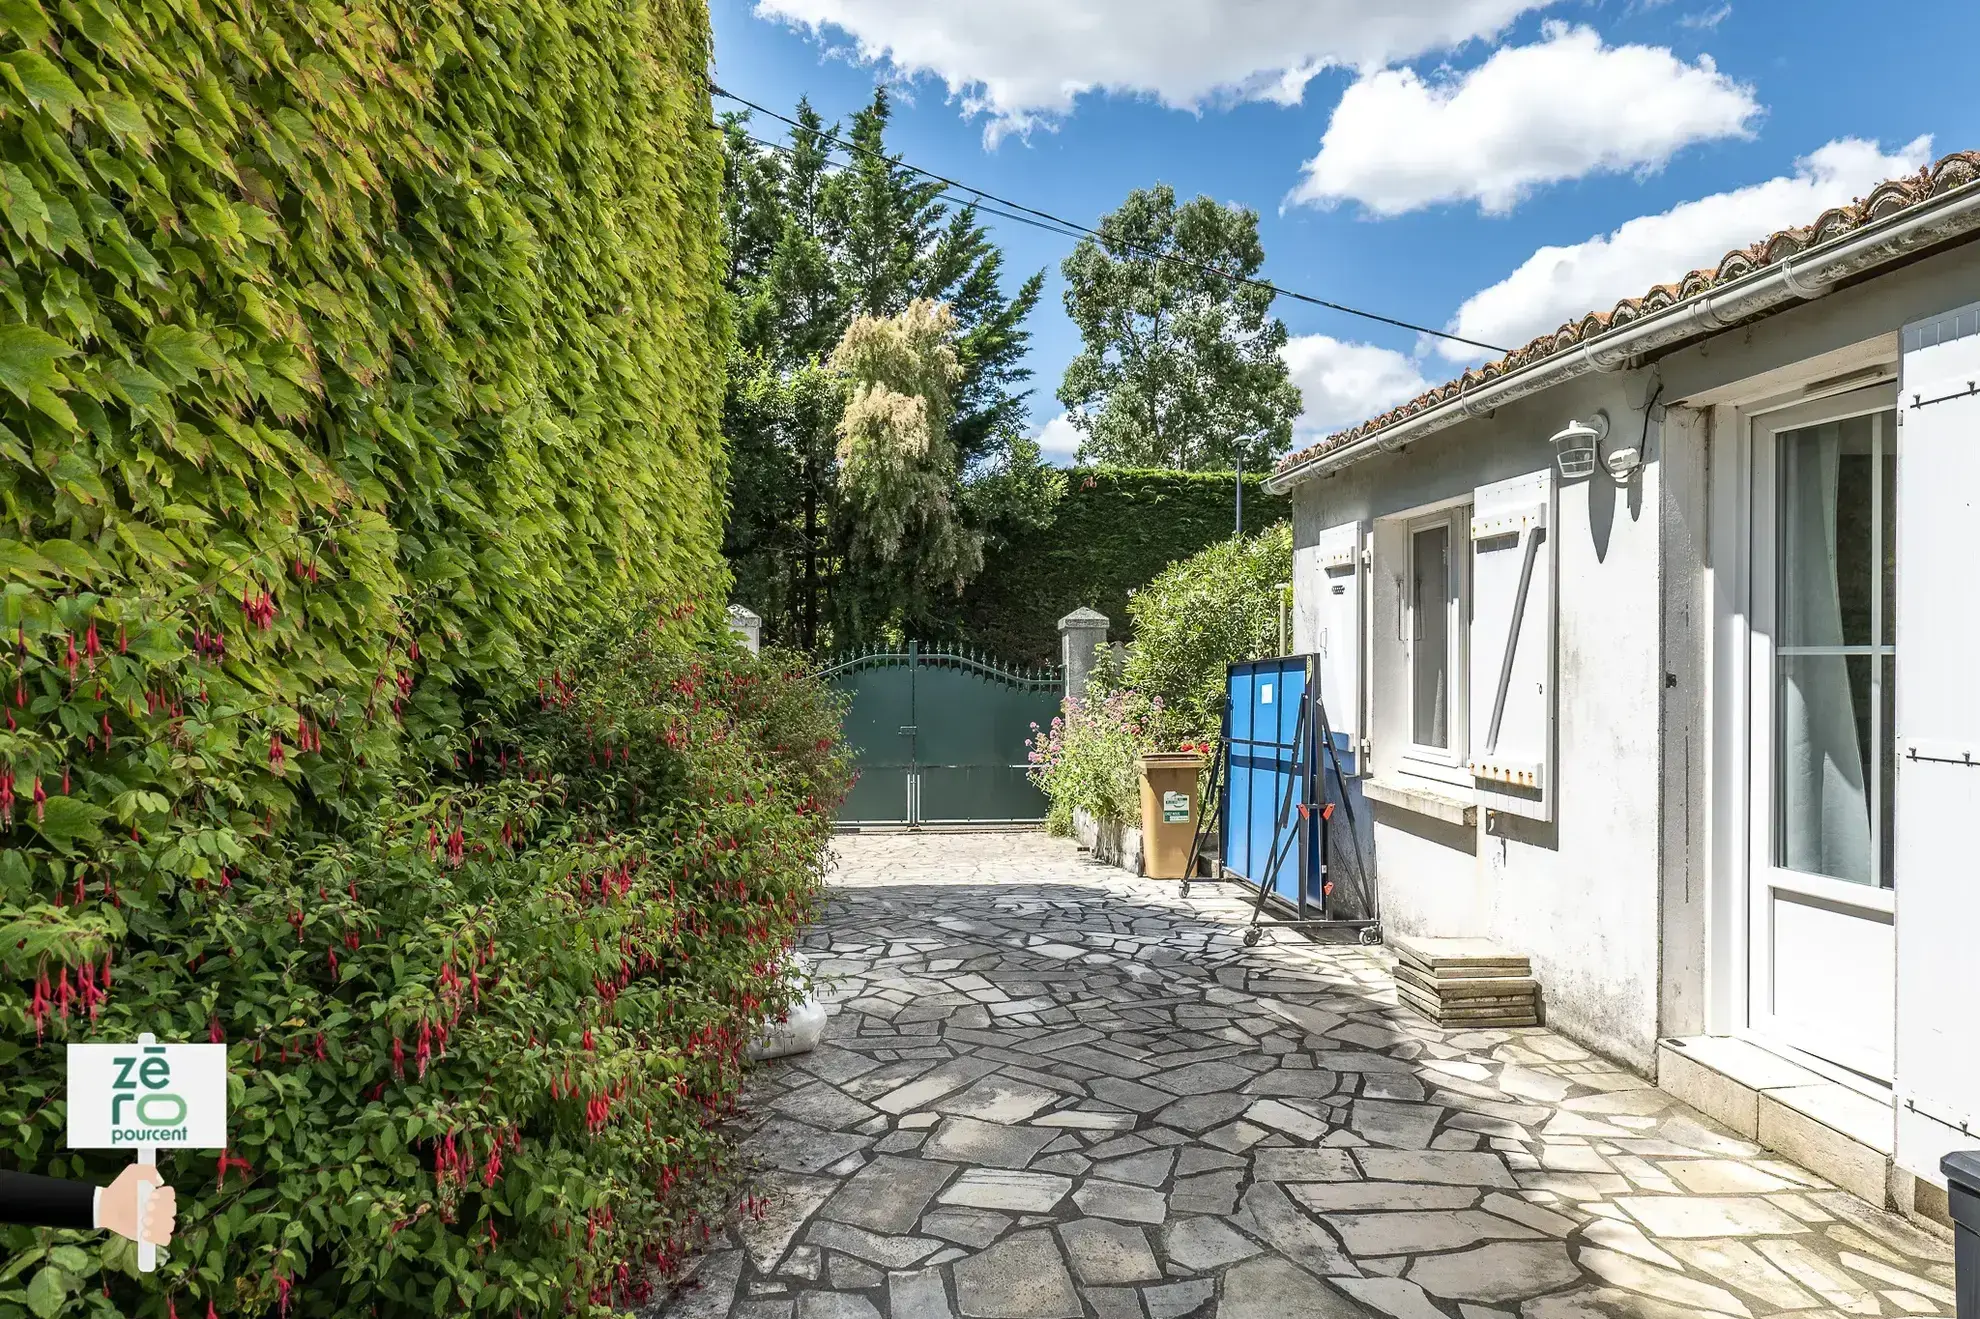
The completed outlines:
<svg viewBox="0 0 1980 1319">
<path fill-rule="evenodd" d="M 717 79 L 752 101 L 788 113 L 810 95 L 830 119 L 883 81 L 893 147 L 915 164 L 1083 224 L 1158 180 L 1241 202 L 1281 287 L 1505 347 L 1980 149 L 1980 101 L 1942 57 L 1980 42 L 1970 0 L 711 8 Z M 1079 351 L 1057 275 L 1071 244 L 990 224 L 1014 279 L 1047 271 L 1032 424 L 1063 461 L 1077 442 L 1053 398 Z M 1408 331 L 1287 299 L 1275 311 L 1307 394 L 1301 440 L 1465 364 Z"/>
</svg>

